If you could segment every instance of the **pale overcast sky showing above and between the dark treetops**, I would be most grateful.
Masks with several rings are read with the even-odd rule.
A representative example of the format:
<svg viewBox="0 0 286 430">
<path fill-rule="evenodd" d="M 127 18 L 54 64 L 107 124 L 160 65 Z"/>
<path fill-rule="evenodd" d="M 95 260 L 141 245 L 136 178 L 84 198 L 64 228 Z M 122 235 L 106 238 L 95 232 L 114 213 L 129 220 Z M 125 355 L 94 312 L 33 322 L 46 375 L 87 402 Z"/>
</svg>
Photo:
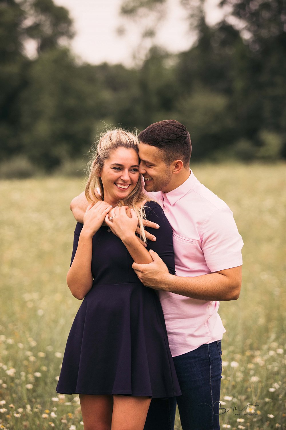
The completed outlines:
<svg viewBox="0 0 286 430">
<path fill-rule="evenodd" d="M 140 40 L 140 28 L 119 16 L 121 0 L 54 0 L 69 9 L 74 19 L 76 36 L 72 40 L 75 54 L 93 64 L 108 61 L 132 65 L 132 52 Z M 206 1 L 207 20 L 211 24 L 220 20 L 222 12 L 216 6 L 218 0 Z M 188 49 L 193 38 L 188 32 L 184 10 L 179 0 L 168 0 L 168 12 L 160 25 L 156 42 L 170 52 Z M 116 29 L 128 22 L 128 31 L 120 37 Z"/>
</svg>

